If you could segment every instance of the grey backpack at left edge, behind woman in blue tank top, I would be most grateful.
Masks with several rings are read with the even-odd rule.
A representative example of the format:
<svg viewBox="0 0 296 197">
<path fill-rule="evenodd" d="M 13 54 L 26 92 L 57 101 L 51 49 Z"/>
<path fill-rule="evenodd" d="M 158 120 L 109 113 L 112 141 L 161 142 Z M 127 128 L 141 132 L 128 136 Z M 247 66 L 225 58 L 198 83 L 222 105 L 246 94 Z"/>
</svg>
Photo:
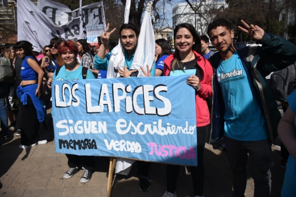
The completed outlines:
<svg viewBox="0 0 296 197">
<path fill-rule="evenodd" d="M 0 58 L 0 83 L 13 82 L 13 69 L 10 60 L 7 58 Z"/>
</svg>

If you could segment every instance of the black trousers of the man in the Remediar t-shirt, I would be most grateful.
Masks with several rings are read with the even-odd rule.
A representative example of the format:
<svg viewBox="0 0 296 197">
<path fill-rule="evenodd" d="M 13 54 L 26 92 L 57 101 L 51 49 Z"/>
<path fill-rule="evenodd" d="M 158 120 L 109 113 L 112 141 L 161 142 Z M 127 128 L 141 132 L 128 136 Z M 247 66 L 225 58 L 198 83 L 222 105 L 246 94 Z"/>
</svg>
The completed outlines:
<svg viewBox="0 0 296 197">
<path fill-rule="evenodd" d="M 233 197 L 244 197 L 247 184 L 248 154 L 254 179 L 254 197 L 269 197 L 271 191 L 270 168 L 274 164 L 268 139 L 239 141 L 225 136 L 225 149 L 233 178 Z"/>
</svg>

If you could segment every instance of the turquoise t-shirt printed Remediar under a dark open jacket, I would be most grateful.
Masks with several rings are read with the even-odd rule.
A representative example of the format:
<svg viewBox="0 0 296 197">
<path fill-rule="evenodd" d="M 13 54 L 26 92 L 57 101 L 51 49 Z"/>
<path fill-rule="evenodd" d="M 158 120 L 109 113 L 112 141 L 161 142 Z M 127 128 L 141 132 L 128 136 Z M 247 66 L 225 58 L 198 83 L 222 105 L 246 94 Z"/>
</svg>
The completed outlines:
<svg viewBox="0 0 296 197">
<path fill-rule="evenodd" d="M 225 135 L 241 141 L 266 139 L 265 120 L 237 52 L 220 62 L 217 77 L 225 105 Z"/>
</svg>

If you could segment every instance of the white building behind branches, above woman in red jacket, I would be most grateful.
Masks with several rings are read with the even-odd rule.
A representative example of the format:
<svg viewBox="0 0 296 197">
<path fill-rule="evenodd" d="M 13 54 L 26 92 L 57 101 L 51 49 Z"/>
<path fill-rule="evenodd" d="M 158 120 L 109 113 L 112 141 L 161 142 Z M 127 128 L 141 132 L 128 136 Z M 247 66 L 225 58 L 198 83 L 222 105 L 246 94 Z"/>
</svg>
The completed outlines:
<svg viewBox="0 0 296 197">
<path fill-rule="evenodd" d="M 191 4 L 196 7 L 197 13 L 194 13 L 188 3 L 178 3 L 173 7 L 173 29 L 181 23 L 189 23 L 200 35 L 206 34 L 208 24 L 215 18 L 211 10 L 228 6 L 225 0 L 192 0 Z"/>
</svg>

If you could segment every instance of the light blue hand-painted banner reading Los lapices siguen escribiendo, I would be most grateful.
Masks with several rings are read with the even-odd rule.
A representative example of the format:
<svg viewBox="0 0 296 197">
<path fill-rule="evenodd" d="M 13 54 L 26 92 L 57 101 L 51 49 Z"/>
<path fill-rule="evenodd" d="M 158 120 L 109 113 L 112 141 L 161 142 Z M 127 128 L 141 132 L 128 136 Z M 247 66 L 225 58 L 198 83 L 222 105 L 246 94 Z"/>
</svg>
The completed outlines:
<svg viewBox="0 0 296 197">
<path fill-rule="evenodd" d="M 197 165 L 188 76 L 54 81 L 56 152 Z"/>
</svg>

